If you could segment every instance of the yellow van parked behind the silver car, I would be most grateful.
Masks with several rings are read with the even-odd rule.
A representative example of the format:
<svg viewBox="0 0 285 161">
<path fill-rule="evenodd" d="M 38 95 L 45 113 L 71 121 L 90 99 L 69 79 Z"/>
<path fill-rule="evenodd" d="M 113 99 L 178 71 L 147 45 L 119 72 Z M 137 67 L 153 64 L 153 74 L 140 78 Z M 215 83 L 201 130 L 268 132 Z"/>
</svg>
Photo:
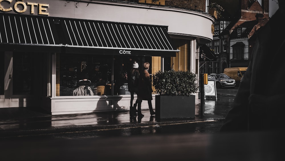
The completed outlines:
<svg viewBox="0 0 285 161">
<path fill-rule="evenodd" d="M 225 68 L 224 74 L 234 79 L 237 86 L 239 86 L 239 83 L 241 82 L 241 78 L 245 74 L 245 71 L 247 71 L 247 67 Z"/>
</svg>

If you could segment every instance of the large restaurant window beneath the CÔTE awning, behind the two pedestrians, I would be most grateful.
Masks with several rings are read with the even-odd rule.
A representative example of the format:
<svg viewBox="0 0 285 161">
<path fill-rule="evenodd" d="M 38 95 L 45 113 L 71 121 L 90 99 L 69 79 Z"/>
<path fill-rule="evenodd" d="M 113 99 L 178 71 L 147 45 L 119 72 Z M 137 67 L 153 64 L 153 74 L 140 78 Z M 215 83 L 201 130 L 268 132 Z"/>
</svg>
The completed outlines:
<svg viewBox="0 0 285 161">
<path fill-rule="evenodd" d="M 56 60 L 56 96 L 127 95 L 133 61 L 139 70 L 144 62 L 151 65 L 151 57 L 141 56 L 57 54 Z"/>
</svg>

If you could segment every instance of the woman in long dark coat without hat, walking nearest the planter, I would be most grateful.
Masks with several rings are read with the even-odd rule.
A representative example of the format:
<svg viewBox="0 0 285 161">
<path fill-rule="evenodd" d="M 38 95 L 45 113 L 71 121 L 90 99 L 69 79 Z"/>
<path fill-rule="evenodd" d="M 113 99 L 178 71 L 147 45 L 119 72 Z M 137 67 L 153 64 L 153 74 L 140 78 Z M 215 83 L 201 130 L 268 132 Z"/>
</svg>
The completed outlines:
<svg viewBox="0 0 285 161">
<path fill-rule="evenodd" d="M 148 73 L 149 63 L 146 62 L 143 64 L 143 71 L 140 73 L 139 77 L 139 91 L 138 91 L 138 116 L 143 117 L 144 115 L 141 113 L 141 103 L 143 100 L 147 100 L 148 108 L 150 111 L 150 115 L 154 115 L 155 112 L 152 109 L 152 88 L 151 81 Z"/>
</svg>

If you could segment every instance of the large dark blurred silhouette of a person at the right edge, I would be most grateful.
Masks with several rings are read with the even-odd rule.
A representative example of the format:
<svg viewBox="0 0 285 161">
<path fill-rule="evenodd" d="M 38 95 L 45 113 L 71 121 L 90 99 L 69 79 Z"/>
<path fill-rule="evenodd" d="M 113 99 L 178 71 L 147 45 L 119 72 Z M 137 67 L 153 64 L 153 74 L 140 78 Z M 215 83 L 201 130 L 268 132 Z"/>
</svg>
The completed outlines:
<svg viewBox="0 0 285 161">
<path fill-rule="evenodd" d="M 284 130 L 285 31 L 280 20 L 285 17 L 285 1 L 257 32 L 249 67 L 220 129 L 225 131 Z M 270 77 L 274 76 L 274 77 Z"/>
</svg>

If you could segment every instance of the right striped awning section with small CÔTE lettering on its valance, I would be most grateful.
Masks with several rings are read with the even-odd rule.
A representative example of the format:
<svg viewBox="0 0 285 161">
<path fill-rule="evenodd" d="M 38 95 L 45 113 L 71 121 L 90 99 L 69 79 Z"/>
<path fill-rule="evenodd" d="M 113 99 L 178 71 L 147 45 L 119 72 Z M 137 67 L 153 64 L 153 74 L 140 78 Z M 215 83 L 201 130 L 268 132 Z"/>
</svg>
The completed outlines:
<svg viewBox="0 0 285 161">
<path fill-rule="evenodd" d="M 103 54 L 110 55 L 131 51 L 135 55 L 175 57 L 178 52 L 172 47 L 165 26 L 78 19 L 63 19 L 60 23 L 66 35 L 65 46 L 72 48 L 66 49 L 67 52 L 77 52 L 74 47 L 90 52 L 95 52 L 92 49 L 108 49 Z"/>
</svg>

